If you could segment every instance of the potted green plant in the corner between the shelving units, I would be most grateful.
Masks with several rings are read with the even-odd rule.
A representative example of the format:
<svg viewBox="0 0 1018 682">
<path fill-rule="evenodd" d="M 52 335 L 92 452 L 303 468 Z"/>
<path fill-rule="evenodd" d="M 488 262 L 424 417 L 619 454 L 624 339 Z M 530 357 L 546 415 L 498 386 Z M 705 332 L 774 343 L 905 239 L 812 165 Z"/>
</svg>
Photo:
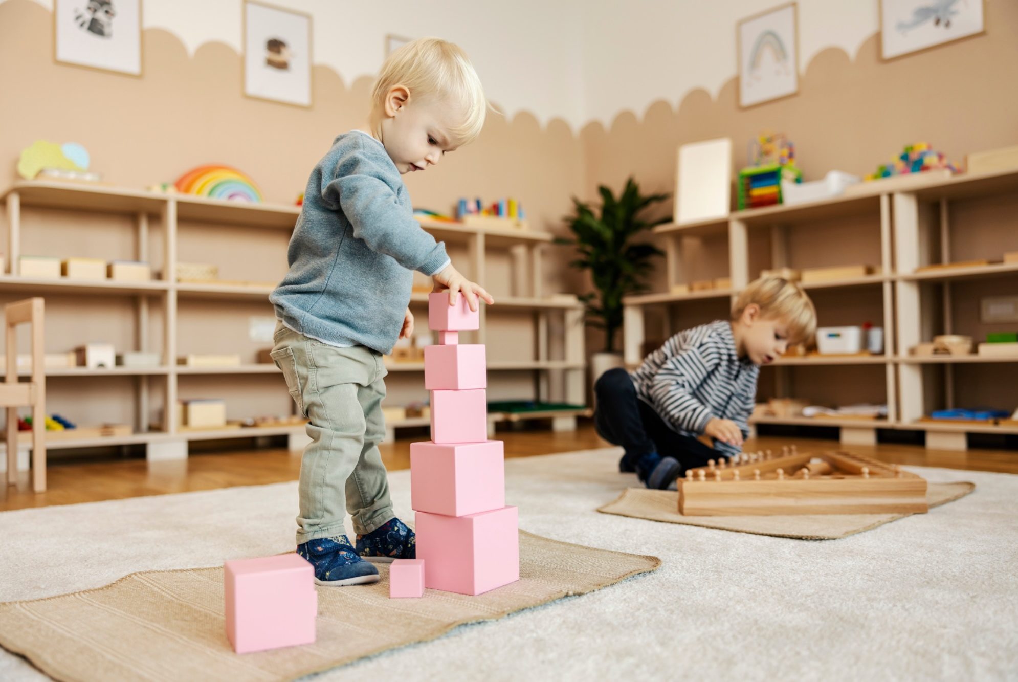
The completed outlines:
<svg viewBox="0 0 1018 682">
<path fill-rule="evenodd" d="M 654 267 L 653 259 L 663 255 L 654 244 L 634 241 L 634 238 L 671 220 L 642 217 L 644 210 L 669 195 L 641 194 L 639 185 L 631 177 L 617 197 L 605 185 L 598 189 L 602 197 L 600 216 L 596 207 L 574 196 L 573 215 L 565 220 L 575 238 L 556 240 L 576 247 L 578 258 L 569 265 L 590 271 L 596 289 L 580 296 L 586 306 L 587 324 L 605 330 L 605 350 L 595 353 L 591 358 L 593 381 L 602 373 L 623 364 L 621 353 L 615 351 L 616 337 L 622 328 L 622 298 L 646 291 L 645 278 Z"/>
</svg>

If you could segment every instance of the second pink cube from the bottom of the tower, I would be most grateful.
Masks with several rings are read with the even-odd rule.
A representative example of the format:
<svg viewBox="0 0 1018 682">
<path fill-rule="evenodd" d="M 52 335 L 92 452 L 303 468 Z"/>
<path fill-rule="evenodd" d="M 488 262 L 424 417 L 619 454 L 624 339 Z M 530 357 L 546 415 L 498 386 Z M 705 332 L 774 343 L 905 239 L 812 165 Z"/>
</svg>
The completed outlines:
<svg viewBox="0 0 1018 682">
<path fill-rule="evenodd" d="M 506 506 L 502 441 L 410 444 L 410 507 L 465 516 Z"/>
</svg>

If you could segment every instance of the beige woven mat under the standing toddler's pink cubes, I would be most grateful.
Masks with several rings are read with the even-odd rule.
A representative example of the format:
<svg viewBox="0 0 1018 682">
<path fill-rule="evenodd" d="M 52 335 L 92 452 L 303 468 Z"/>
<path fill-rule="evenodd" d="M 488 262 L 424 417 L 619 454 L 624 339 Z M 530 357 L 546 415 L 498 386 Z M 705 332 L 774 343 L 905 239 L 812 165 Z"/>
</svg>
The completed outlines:
<svg viewBox="0 0 1018 682">
<path fill-rule="evenodd" d="M 0 644 L 58 680 L 290 680 L 453 628 L 584 594 L 661 566 L 520 531 L 520 579 L 478 596 L 389 599 L 382 580 L 319 588 L 316 643 L 237 656 L 223 629 L 223 569 L 132 573 L 63 596 L 0 604 Z"/>
</svg>

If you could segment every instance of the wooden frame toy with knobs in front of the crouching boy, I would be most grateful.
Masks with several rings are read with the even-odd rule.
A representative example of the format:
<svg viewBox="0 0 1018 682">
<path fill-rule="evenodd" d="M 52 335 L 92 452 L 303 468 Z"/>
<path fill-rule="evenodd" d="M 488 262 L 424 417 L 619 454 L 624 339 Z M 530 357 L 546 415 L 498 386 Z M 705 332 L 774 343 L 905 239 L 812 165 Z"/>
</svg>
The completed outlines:
<svg viewBox="0 0 1018 682">
<path fill-rule="evenodd" d="M 710 460 L 677 481 L 685 516 L 924 514 L 926 480 L 897 465 L 830 451 L 799 454 L 792 446 Z"/>
</svg>

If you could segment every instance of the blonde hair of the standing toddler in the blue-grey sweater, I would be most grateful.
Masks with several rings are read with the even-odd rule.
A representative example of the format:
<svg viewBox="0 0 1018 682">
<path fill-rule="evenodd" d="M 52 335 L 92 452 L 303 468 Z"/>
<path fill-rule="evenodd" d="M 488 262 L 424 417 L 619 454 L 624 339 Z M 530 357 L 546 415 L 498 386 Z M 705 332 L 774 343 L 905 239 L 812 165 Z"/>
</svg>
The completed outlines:
<svg viewBox="0 0 1018 682">
<path fill-rule="evenodd" d="M 461 121 L 449 130 L 457 147 L 480 134 L 488 98 L 477 72 L 458 45 L 439 38 L 418 38 L 389 55 L 372 92 L 372 132 L 376 136 L 381 135 L 385 98 L 398 84 L 405 86 L 412 97 L 459 105 Z"/>
</svg>

